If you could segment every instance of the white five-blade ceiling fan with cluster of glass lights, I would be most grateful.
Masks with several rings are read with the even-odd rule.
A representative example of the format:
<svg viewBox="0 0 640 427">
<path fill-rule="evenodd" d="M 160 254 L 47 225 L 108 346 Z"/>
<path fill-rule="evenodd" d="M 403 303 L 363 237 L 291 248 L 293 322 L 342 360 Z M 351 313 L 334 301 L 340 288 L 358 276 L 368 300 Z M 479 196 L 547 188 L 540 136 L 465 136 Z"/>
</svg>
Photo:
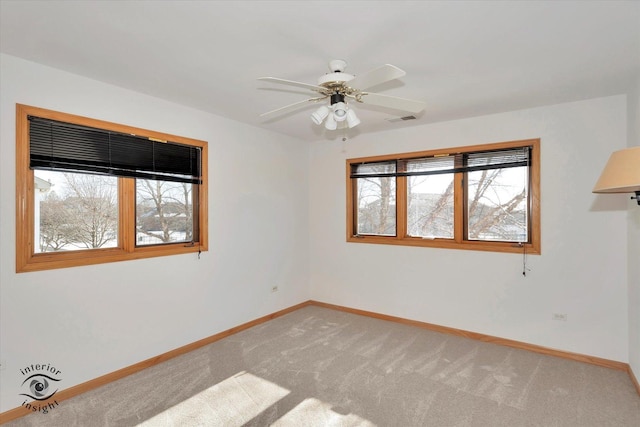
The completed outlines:
<svg viewBox="0 0 640 427">
<path fill-rule="evenodd" d="M 311 114 L 311 120 L 328 130 L 335 130 L 339 127 L 352 128 L 360 124 L 360 119 L 355 111 L 349 108 L 349 101 L 355 101 L 368 105 L 389 108 L 406 113 L 419 113 L 425 108 L 425 103 L 412 99 L 398 98 L 395 96 L 380 95 L 378 93 L 367 92 L 366 89 L 386 83 L 390 80 L 398 79 L 406 73 L 400 68 L 385 64 L 364 74 L 354 76 L 345 73 L 347 63 L 341 59 L 329 62 L 328 74 L 318 79 L 318 84 L 308 84 L 285 80 L 277 77 L 260 77 L 258 80 L 289 86 L 301 87 L 317 92 L 320 96 L 295 102 L 284 107 L 268 111 L 260 117 L 271 117 L 284 112 L 293 111 L 308 105 L 309 102 L 319 102 L 329 99 L 329 105 L 323 105 Z"/>
</svg>

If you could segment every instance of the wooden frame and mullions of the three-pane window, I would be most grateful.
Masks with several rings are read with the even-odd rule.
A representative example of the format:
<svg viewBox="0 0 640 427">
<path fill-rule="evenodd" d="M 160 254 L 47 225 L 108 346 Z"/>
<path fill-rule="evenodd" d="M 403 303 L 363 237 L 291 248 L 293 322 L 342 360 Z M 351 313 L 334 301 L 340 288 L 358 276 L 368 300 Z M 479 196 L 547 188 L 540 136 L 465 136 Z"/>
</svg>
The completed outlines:
<svg viewBox="0 0 640 427">
<path fill-rule="evenodd" d="M 464 173 L 454 174 L 454 237 L 453 239 L 423 239 L 407 235 L 407 177 L 396 177 L 396 235 L 376 236 L 358 235 L 357 230 L 357 179 L 350 177 L 352 165 L 366 162 L 379 162 L 388 160 L 401 160 L 410 158 L 430 157 L 439 155 L 453 155 L 461 153 L 501 150 L 509 148 L 532 147 L 531 164 L 529 165 L 529 206 L 528 206 L 528 232 L 529 241 L 495 242 L 464 239 L 464 206 L 466 187 L 463 182 Z M 528 139 L 520 141 L 507 141 L 475 146 L 444 148 L 429 151 L 411 153 L 389 154 L 373 157 L 360 157 L 347 159 L 346 161 L 346 188 L 347 188 L 347 242 L 373 243 L 385 245 L 420 246 L 442 249 L 466 249 L 477 251 L 527 253 L 539 255 L 541 253 L 540 242 L 540 139 Z"/>
</svg>

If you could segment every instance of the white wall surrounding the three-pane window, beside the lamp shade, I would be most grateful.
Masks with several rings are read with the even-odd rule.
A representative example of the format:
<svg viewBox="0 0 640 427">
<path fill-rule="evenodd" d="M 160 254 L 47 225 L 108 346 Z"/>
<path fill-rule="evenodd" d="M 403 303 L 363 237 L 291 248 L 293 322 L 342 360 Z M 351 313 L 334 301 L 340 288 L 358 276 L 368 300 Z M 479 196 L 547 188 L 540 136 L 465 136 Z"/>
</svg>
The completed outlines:
<svg viewBox="0 0 640 427">
<path fill-rule="evenodd" d="M 626 107 L 621 95 L 312 145 L 311 297 L 627 362 L 627 198 L 591 193 L 627 144 Z M 542 255 L 526 277 L 519 254 L 345 242 L 345 159 L 528 138 L 541 138 Z"/>
</svg>

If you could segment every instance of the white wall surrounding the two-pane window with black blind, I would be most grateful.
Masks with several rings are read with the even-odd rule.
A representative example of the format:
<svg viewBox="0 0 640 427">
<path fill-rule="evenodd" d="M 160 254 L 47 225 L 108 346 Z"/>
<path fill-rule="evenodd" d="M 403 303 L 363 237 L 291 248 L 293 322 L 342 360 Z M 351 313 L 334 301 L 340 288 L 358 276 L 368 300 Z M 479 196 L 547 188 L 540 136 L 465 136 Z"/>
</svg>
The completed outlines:
<svg viewBox="0 0 640 427">
<path fill-rule="evenodd" d="M 32 363 L 69 388 L 309 298 L 305 144 L 6 55 L 0 87 L 0 412 Z M 209 251 L 16 274 L 16 103 L 208 141 Z"/>
</svg>

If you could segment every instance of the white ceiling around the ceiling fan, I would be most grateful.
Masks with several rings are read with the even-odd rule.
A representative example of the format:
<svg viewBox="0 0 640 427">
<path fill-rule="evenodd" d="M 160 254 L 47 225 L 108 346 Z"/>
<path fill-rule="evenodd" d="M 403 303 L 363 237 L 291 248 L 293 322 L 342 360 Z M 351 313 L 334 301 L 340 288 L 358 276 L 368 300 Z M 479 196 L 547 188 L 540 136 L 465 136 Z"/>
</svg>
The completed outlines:
<svg viewBox="0 0 640 427">
<path fill-rule="evenodd" d="M 301 140 L 626 93 L 640 74 L 640 1 L 0 0 L 0 50 Z M 358 75 L 405 70 L 372 92 L 426 102 L 417 120 L 357 104 L 362 124 L 325 131 L 313 92 L 328 61 Z"/>
</svg>

